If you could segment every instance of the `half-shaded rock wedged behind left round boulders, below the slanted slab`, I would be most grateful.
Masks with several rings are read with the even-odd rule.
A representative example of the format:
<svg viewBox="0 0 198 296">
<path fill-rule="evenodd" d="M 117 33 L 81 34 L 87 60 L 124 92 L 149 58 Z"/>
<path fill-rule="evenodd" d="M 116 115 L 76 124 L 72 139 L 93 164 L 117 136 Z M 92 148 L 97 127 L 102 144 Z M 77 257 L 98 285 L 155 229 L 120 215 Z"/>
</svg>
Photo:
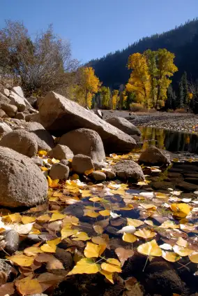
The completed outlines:
<svg viewBox="0 0 198 296">
<path fill-rule="evenodd" d="M 54 139 L 43 125 L 38 122 L 26 122 L 24 125 L 26 131 L 31 132 L 38 143 L 38 150 L 50 151 L 54 148 Z"/>
</svg>

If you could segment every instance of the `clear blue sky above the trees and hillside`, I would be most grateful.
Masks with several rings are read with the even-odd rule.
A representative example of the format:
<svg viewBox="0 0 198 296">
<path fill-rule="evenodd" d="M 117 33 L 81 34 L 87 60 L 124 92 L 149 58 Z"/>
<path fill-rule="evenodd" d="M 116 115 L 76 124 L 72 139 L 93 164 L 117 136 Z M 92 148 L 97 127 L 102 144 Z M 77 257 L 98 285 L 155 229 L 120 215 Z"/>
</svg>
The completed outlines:
<svg viewBox="0 0 198 296">
<path fill-rule="evenodd" d="M 0 0 L 4 20 L 22 20 L 33 37 L 53 23 L 81 62 L 197 17 L 198 0 Z"/>
</svg>

